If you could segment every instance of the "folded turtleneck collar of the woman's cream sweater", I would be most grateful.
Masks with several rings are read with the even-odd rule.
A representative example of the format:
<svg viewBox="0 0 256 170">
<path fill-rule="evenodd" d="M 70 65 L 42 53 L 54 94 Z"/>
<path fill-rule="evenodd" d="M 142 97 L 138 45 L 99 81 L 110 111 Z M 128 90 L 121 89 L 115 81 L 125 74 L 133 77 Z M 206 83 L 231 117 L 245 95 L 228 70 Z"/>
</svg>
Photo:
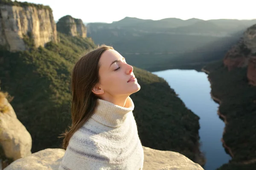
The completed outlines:
<svg viewBox="0 0 256 170">
<path fill-rule="evenodd" d="M 110 127 L 119 127 L 127 117 L 127 113 L 134 110 L 134 103 L 128 96 L 125 107 L 115 105 L 106 100 L 97 99 L 98 105 L 92 118 L 103 125 Z"/>
</svg>

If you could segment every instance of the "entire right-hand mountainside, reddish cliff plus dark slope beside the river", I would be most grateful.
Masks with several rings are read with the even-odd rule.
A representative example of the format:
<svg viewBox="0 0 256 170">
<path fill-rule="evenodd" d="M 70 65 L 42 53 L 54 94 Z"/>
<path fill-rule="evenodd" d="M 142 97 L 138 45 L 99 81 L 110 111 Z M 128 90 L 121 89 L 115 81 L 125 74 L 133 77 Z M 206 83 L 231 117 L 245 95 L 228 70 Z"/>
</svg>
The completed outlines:
<svg viewBox="0 0 256 170">
<path fill-rule="evenodd" d="M 224 59 L 206 65 L 212 98 L 226 126 L 223 146 L 232 160 L 218 170 L 256 169 L 256 25 L 244 31 Z"/>
</svg>

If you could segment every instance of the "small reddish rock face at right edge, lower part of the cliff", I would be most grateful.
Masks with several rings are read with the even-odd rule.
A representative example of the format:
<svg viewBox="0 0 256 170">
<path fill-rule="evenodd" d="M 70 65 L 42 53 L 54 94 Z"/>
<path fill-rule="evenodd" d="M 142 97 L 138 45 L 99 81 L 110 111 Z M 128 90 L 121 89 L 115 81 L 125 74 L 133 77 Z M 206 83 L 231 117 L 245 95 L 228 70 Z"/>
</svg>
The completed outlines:
<svg viewBox="0 0 256 170">
<path fill-rule="evenodd" d="M 247 68 L 247 79 L 250 85 L 256 86 L 256 56 L 250 57 Z"/>
</svg>

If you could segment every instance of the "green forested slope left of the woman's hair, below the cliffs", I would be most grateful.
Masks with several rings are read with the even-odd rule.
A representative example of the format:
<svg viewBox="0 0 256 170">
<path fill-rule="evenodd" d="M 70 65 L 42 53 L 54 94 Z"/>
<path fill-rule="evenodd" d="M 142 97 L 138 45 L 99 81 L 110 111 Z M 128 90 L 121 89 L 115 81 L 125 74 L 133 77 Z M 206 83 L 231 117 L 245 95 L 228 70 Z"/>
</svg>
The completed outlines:
<svg viewBox="0 0 256 170">
<path fill-rule="evenodd" d="M 1 48 L 1 90 L 14 96 L 12 105 L 32 136 L 32 152 L 60 147 L 57 136 L 70 122 L 70 71 L 76 59 L 95 47 L 90 38 L 59 34 L 45 48 L 11 53 Z"/>
</svg>

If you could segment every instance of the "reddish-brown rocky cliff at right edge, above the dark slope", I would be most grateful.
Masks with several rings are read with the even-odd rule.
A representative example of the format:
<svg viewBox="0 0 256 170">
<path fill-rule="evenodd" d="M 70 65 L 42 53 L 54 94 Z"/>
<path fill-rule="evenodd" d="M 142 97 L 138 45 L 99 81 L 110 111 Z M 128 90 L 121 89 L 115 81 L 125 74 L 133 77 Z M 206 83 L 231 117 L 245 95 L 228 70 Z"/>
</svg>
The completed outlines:
<svg viewBox="0 0 256 170">
<path fill-rule="evenodd" d="M 256 85 L 256 24 L 247 28 L 239 42 L 227 52 L 223 62 L 229 71 L 248 67 L 249 84 Z"/>
</svg>

